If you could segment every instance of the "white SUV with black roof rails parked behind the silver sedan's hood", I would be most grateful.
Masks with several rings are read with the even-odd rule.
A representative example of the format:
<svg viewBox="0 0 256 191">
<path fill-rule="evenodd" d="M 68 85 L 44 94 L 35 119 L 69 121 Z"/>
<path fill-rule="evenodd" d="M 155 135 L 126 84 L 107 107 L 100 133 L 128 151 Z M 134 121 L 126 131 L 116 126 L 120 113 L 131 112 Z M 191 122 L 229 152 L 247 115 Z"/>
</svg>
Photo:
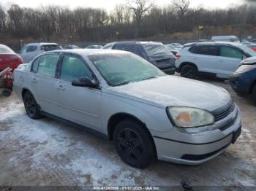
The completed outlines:
<svg viewBox="0 0 256 191">
<path fill-rule="evenodd" d="M 176 71 L 181 77 L 207 76 L 227 79 L 244 58 L 256 52 L 239 43 L 199 42 L 186 44 L 176 55 Z"/>
</svg>

